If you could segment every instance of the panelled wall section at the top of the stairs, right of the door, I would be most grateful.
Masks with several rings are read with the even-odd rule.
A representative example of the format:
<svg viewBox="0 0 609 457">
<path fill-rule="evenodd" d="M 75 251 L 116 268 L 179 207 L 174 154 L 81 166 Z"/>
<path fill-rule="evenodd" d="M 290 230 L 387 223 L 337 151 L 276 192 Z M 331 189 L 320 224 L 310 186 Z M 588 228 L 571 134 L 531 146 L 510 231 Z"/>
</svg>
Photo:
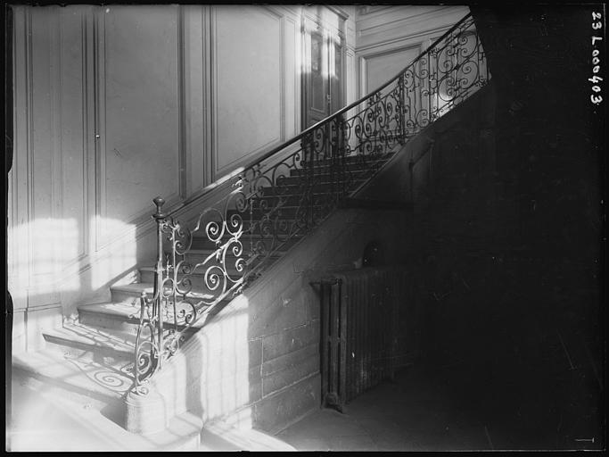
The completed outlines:
<svg viewBox="0 0 609 457">
<path fill-rule="evenodd" d="M 374 5 L 356 10 L 359 96 L 396 76 L 469 12 L 466 6 Z"/>
</svg>

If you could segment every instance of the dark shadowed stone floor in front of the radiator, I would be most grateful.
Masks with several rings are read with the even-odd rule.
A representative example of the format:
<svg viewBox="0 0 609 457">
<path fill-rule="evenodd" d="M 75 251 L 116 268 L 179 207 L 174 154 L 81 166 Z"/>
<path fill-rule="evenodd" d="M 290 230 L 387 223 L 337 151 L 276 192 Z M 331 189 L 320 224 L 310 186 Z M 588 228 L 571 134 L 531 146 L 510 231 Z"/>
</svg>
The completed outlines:
<svg viewBox="0 0 609 457">
<path fill-rule="evenodd" d="M 299 451 L 482 451 L 599 449 L 591 436 L 561 433 L 546 399 L 493 398 L 466 364 L 402 370 L 348 403 L 316 411 L 276 437 Z M 468 381 L 469 380 L 469 381 Z M 531 391 L 535 386 L 531 385 Z M 539 412 L 540 411 L 540 412 Z M 546 414 L 544 414 L 544 411 Z M 550 414 L 547 414 L 547 412 Z M 541 415 L 539 415 L 541 414 Z"/>
</svg>

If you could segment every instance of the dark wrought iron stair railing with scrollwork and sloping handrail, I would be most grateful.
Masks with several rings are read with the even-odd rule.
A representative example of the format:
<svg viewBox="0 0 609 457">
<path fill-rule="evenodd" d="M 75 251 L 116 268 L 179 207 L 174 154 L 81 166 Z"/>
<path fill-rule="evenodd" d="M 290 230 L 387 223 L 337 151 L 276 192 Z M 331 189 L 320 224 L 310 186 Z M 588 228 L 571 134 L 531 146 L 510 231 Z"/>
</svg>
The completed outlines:
<svg viewBox="0 0 609 457">
<path fill-rule="evenodd" d="M 202 316 L 240 293 L 278 253 L 324 220 L 388 155 L 486 84 L 490 74 L 471 15 L 393 79 L 264 154 L 238 173 L 193 228 L 154 199 L 157 260 L 141 297 L 136 391 Z M 189 203 L 189 204 L 192 204 Z"/>
</svg>

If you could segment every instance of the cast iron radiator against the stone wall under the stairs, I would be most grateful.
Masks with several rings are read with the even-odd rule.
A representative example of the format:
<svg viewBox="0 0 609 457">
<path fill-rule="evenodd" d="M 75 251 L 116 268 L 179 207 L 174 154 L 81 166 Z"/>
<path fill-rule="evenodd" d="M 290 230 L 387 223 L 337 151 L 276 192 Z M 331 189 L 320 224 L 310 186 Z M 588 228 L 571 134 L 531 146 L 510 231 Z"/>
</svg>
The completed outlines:
<svg viewBox="0 0 609 457">
<path fill-rule="evenodd" d="M 320 299 L 322 399 L 342 411 L 416 358 L 415 284 L 404 267 L 342 271 L 311 284 Z"/>
</svg>

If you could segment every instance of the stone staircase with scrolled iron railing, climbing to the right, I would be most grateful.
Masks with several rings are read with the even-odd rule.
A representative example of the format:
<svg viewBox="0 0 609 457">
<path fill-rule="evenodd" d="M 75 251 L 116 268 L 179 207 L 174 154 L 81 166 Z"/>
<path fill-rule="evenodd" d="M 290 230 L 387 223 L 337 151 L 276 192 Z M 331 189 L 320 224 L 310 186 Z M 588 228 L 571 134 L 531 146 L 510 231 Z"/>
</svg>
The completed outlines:
<svg viewBox="0 0 609 457">
<path fill-rule="evenodd" d="M 126 427 L 128 395 L 145 402 L 146 380 L 211 317 L 366 187 L 409 138 L 488 81 L 471 37 L 468 15 L 373 94 L 245 168 L 221 202 L 189 203 L 200 206 L 196 220 L 163 214 L 157 197 L 157 259 L 139 269 L 138 282 L 111 287 L 110 302 L 81 305 L 78 319 L 45 331 L 45 350 L 15 356 L 15 370 Z M 199 445 L 201 418 L 185 412 L 171 424 L 181 438 L 158 432 L 160 447 Z"/>
</svg>

